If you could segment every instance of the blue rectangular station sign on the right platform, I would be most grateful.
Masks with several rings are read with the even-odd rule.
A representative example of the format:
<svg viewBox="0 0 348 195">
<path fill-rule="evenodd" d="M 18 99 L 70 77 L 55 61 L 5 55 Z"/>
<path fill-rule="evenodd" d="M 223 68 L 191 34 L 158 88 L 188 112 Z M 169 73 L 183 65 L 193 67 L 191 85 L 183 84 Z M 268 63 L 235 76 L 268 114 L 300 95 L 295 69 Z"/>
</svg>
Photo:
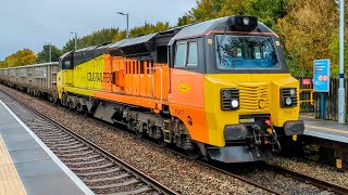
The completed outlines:
<svg viewBox="0 0 348 195">
<path fill-rule="evenodd" d="M 330 60 L 315 60 L 313 69 L 315 92 L 330 91 Z"/>
</svg>

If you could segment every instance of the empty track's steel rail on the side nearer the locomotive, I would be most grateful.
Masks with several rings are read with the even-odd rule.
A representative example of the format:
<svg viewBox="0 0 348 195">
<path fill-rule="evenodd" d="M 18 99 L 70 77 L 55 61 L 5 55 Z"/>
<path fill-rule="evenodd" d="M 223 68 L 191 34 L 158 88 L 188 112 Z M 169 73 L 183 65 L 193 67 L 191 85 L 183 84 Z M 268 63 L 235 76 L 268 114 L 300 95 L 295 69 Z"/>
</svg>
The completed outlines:
<svg viewBox="0 0 348 195">
<path fill-rule="evenodd" d="M 129 164 L 125 162 L 124 160 L 122 160 L 121 158 L 112 155 L 111 153 L 109 153 L 108 151 L 101 148 L 100 146 L 94 144 L 92 142 L 86 140 L 85 138 L 83 138 L 82 135 L 79 135 L 76 132 L 73 132 L 72 130 L 70 130 L 69 128 L 66 128 L 65 126 L 61 125 L 60 122 L 49 118 L 48 116 L 44 115 L 42 113 L 40 113 L 39 110 L 37 110 L 36 108 L 32 107 L 29 104 L 18 100 L 16 96 L 11 95 L 10 93 L 1 90 L 2 92 L 4 92 L 8 96 L 10 96 L 12 100 L 16 101 L 17 103 L 22 104 L 23 106 L 25 106 L 26 108 L 28 108 L 30 112 L 35 113 L 36 115 L 38 115 L 39 117 L 44 118 L 45 120 L 48 120 L 49 122 L 58 126 L 59 128 L 65 130 L 66 132 L 69 132 L 70 134 L 72 134 L 73 136 L 75 136 L 77 140 L 83 141 L 84 143 L 86 143 L 88 146 L 95 148 L 96 151 L 99 151 L 101 155 L 103 155 L 104 157 L 109 158 L 111 161 L 113 161 L 114 164 L 119 165 L 120 167 L 124 168 L 125 170 L 132 172 L 134 176 L 136 176 L 137 178 L 139 178 L 141 181 L 144 181 L 145 183 L 147 183 L 148 185 L 152 186 L 154 190 L 163 193 L 163 194 L 167 194 L 167 195 L 176 195 L 178 194 L 177 192 L 166 187 L 165 185 L 163 185 L 162 183 L 160 183 L 159 181 L 156 181 L 154 179 L 152 179 L 151 177 L 147 176 L 145 172 L 132 167 Z"/>
</svg>

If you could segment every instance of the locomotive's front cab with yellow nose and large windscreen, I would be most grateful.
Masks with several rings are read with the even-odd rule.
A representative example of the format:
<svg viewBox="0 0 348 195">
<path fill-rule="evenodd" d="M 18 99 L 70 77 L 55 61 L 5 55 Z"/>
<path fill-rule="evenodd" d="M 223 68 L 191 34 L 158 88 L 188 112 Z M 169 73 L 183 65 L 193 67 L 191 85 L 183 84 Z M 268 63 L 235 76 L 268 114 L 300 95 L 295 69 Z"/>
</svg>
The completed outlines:
<svg viewBox="0 0 348 195">
<path fill-rule="evenodd" d="M 202 153 L 224 162 L 254 161 L 281 151 L 281 139 L 303 133 L 299 83 L 278 37 L 257 17 L 203 22 L 176 37 L 172 102 L 203 107 L 207 122 L 196 126 L 208 129 Z"/>
</svg>

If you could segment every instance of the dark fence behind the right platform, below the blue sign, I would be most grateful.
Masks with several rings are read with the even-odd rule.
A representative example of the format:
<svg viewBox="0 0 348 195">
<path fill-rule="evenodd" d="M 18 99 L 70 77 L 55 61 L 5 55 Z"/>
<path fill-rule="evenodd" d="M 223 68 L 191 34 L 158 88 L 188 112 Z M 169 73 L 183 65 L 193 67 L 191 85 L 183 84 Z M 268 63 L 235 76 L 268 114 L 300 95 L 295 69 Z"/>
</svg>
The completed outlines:
<svg viewBox="0 0 348 195">
<path fill-rule="evenodd" d="M 301 89 L 313 89 L 312 78 L 310 78 L 310 84 L 303 84 L 304 78 L 297 78 L 300 81 Z M 324 118 L 327 120 L 338 120 L 338 78 L 332 78 L 330 81 L 330 92 L 325 93 L 325 115 Z M 346 110 L 348 110 L 348 79 L 345 79 L 345 93 L 346 93 Z M 310 100 L 310 91 L 303 91 L 300 94 L 300 100 Z M 301 103 L 300 112 L 314 112 L 316 118 L 321 118 L 321 94 L 314 92 L 313 94 L 314 105 L 309 102 Z M 346 116 L 348 121 L 348 115 Z"/>
</svg>

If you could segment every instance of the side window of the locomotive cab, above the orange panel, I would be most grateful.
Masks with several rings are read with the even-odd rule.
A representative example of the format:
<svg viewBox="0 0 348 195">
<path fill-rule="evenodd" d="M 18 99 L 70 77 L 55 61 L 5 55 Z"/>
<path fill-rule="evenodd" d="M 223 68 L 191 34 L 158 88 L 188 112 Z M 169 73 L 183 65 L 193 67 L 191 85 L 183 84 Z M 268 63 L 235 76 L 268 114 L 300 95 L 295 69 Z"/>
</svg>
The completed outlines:
<svg viewBox="0 0 348 195">
<path fill-rule="evenodd" d="M 183 41 L 176 44 L 174 67 L 190 68 L 198 66 L 197 41 Z"/>
</svg>

